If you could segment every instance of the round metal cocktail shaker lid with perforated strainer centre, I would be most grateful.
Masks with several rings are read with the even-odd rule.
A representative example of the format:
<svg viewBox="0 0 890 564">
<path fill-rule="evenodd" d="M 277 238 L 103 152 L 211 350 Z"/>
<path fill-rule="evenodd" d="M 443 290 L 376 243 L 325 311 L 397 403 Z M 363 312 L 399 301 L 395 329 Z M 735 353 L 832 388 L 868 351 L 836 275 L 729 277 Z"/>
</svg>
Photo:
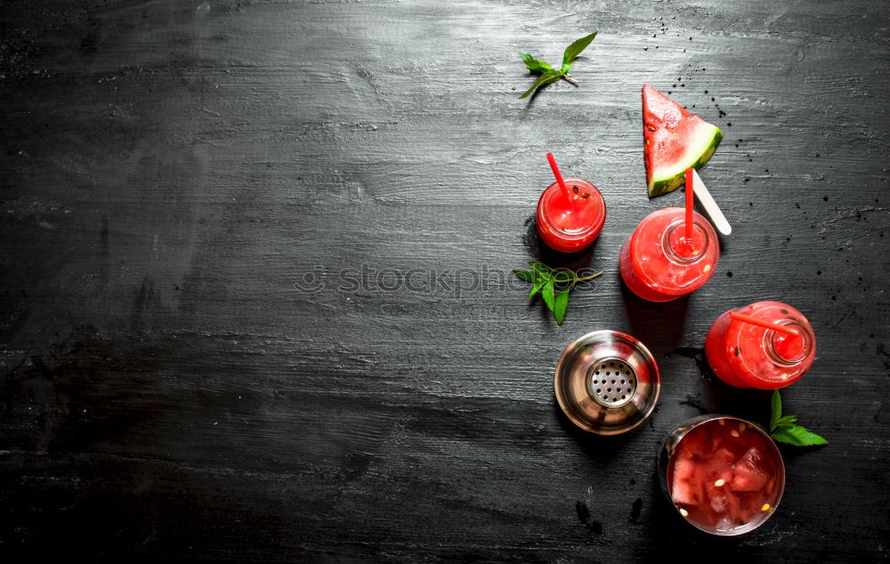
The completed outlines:
<svg viewBox="0 0 890 564">
<path fill-rule="evenodd" d="M 629 334 L 594 331 L 572 342 L 556 364 L 556 400 L 581 429 L 618 435 L 651 415 L 661 387 L 651 352 Z"/>
</svg>

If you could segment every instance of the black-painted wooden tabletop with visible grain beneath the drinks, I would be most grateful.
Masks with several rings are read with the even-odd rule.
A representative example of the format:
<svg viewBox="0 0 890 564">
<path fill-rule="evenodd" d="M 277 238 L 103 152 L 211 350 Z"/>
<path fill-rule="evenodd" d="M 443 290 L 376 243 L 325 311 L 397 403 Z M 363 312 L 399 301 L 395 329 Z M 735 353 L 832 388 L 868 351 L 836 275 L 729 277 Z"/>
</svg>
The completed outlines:
<svg viewBox="0 0 890 564">
<path fill-rule="evenodd" d="M 517 51 L 594 30 L 578 87 L 517 100 Z M 888 560 L 888 30 L 880 1 L 0 4 L 0 552 Z M 683 197 L 645 195 L 643 83 L 723 128 L 702 177 L 735 228 L 660 306 L 617 268 Z M 508 276 L 542 256 L 546 150 L 609 208 L 563 326 Z M 768 416 L 700 370 L 761 299 L 813 323 L 783 397 L 830 444 L 784 448 L 773 520 L 716 539 L 655 456 L 694 415 Z M 553 391 L 603 328 L 662 371 L 615 440 Z"/>
</svg>

